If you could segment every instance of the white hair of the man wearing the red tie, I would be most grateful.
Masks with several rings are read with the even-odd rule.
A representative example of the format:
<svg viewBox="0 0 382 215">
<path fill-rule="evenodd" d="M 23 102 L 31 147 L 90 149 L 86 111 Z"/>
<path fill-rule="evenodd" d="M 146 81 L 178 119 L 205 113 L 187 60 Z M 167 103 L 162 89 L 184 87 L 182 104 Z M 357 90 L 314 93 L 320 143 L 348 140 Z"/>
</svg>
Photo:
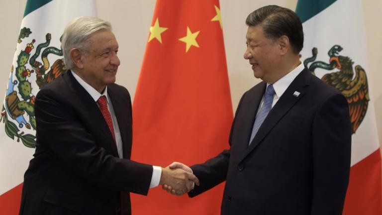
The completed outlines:
<svg viewBox="0 0 382 215">
<path fill-rule="evenodd" d="M 110 22 L 91 16 L 79 16 L 69 22 L 62 35 L 61 41 L 61 47 L 64 52 L 64 62 L 67 69 L 73 69 L 75 67 L 70 57 L 70 50 L 78 48 L 88 53 L 89 38 L 93 33 L 100 30 L 111 30 Z"/>
</svg>

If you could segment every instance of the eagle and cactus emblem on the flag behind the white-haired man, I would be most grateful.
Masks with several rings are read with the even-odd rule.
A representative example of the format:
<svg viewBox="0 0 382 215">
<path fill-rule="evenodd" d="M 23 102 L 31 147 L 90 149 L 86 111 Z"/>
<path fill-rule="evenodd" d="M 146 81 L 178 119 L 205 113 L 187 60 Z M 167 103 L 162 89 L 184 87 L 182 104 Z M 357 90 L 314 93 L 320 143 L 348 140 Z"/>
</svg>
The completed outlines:
<svg viewBox="0 0 382 215">
<path fill-rule="evenodd" d="M 36 40 L 27 40 L 31 33 L 30 29 L 26 27 L 20 30 L 17 43 L 18 47 L 22 48 L 16 50 L 19 54 L 11 67 L 0 121 L 5 124 L 5 133 L 8 137 L 17 142 L 21 140 L 26 147 L 33 148 L 36 143 L 34 132 L 36 129 L 34 117 L 36 97 L 32 89 L 43 88 L 64 73 L 66 68 L 62 58 L 57 59 L 50 66 L 49 54 L 63 56 L 61 47 L 49 47 L 51 34 L 47 33 L 45 41 L 37 45 L 35 49 Z M 23 46 L 23 43 L 26 44 Z M 32 53 L 33 49 L 35 49 L 34 53 Z"/>
</svg>

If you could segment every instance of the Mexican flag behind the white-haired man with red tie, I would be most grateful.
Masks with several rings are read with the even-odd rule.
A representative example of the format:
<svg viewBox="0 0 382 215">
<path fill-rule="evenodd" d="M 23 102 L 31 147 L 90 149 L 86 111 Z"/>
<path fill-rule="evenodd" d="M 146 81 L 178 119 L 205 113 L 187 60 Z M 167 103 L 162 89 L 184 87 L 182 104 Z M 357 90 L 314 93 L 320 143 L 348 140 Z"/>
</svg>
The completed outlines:
<svg viewBox="0 0 382 215">
<path fill-rule="evenodd" d="M 96 16 L 95 0 L 28 0 L 0 115 L 0 214 L 15 215 L 23 175 L 34 153 L 34 101 L 45 84 L 66 71 L 61 35 L 76 16 Z M 11 53 L 9 53 L 11 54 Z"/>
</svg>

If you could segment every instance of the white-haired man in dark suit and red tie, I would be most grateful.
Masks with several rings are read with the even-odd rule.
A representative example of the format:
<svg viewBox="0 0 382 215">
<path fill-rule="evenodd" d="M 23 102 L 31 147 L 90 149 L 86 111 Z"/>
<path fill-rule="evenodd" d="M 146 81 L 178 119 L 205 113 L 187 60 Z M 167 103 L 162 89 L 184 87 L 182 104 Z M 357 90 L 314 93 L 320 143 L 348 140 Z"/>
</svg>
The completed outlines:
<svg viewBox="0 0 382 215">
<path fill-rule="evenodd" d="M 129 215 L 129 192 L 169 184 L 183 194 L 198 184 L 184 170 L 130 160 L 131 100 L 114 84 L 120 61 L 109 22 L 73 19 L 62 49 L 68 71 L 36 97 L 36 151 L 20 215 Z"/>
</svg>

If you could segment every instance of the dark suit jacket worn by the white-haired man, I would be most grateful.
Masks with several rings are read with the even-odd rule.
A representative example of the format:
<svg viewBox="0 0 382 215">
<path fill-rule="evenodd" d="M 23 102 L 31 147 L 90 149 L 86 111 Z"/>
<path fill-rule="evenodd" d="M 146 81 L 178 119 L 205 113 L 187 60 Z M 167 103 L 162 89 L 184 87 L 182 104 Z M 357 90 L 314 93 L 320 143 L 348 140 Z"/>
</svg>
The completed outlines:
<svg viewBox="0 0 382 215">
<path fill-rule="evenodd" d="M 95 101 L 70 71 L 37 94 L 36 151 L 24 175 L 20 215 L 128 215 L 129 192 L 147 195 L 152 166 L 129 160 L 130 95 L 116 84 L 107 93 L 124 159 Z"/>
</svg>

